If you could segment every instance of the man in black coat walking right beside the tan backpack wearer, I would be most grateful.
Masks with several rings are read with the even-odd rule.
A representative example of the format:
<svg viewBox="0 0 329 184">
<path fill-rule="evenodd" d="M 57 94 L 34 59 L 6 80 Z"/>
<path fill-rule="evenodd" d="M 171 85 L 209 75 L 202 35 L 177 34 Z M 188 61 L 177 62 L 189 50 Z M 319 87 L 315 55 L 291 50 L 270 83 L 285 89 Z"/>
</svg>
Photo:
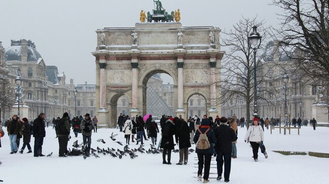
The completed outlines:
<svg viewBox="0 0 329 184">
<path fill-rule="evenodd" d="M 227 126 L 227 118 L 220 118 L 220 125 L 215 129 L 215 136 L 217 143 L 215 146 L 217 157 L 217 180 L 221 180 L 223 173 L 223 163 L 225 165 L 224 179 L 228 182 L 231 172 L 231 152 L 232 142 L 237 140 L 236 134 L 233 129 Z M 223 160 L 224 158 L 224 160 Z"/>
</svg>

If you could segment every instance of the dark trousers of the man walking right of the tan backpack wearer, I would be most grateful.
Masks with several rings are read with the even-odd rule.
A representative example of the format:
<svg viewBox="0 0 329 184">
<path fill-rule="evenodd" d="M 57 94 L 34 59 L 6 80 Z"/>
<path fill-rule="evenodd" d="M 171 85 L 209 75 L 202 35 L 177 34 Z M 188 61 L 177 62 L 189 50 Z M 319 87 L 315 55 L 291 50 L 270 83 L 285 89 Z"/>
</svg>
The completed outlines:
<svg viewBox="0 0 329 184">
<path fill-rule="evenodd" d="M 223 159 L 224 158 L 224 159 Z M 222 176 L 224 164 L 224 179 L 230 179 L 231 172 L 231 153 L 217 153 L 217 174 Z"/>
</svg>

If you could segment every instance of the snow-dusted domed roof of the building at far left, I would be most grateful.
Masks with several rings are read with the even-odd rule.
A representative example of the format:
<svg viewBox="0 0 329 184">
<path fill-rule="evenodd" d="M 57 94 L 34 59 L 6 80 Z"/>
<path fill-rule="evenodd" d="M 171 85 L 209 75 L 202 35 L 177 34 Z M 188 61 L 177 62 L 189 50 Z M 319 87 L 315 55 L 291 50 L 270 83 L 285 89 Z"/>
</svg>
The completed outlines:
<svg viewBox="0 0 329 184">
<path fill-rule="evenodd" d="M 6 49 L 5 60 L 21 60 L 21 45 L 13 45 Z M 36 51 L 35 48 L 27 46 L 27 61 L 28 62 L 37 62 L 42 56 Z"/>
</svg>

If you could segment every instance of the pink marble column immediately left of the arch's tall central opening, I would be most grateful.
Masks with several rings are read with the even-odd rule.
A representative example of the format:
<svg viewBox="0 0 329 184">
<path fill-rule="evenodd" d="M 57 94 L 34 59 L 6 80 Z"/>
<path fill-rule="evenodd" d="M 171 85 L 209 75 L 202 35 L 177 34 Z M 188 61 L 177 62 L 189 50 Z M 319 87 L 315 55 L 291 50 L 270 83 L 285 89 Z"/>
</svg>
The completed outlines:
<svg viewBox="0 0 329 184">
<path fill-rule="evenodd" d="M 138 99 L 137 99 L 137 90 L 138 90 L 138 59 L 137 57 L 132 57 L 132 109 L 138 109 Z"/>
</svg>

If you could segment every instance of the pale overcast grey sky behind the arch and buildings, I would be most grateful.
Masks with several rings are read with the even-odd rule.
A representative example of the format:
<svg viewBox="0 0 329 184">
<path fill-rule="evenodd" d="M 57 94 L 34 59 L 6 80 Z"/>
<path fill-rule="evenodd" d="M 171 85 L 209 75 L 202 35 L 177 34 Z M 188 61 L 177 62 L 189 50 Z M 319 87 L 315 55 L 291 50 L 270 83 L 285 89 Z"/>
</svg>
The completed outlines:
<svg viewBox="0 0 329 184">
<path fill-rule="evenodd" d="M 271 0 L 161 0 L 168 12 L 180 9 L 183 26 L 216 26 L 231 29 L 241 16 L 277 25 Z M 65 72 L 66 82 L 95 84 L 95 30 L 133 27 L 141 10 L 154 9 L 152 0 L 1 0 L 0 41 L 30 39 L 45 59 Z M 225 48 L 222 48 L 225 50 Z M 163 75 L 164 76 L 164 75 Z M 163 77 L 165 83 L 170 80 Z"/>
</svg>

